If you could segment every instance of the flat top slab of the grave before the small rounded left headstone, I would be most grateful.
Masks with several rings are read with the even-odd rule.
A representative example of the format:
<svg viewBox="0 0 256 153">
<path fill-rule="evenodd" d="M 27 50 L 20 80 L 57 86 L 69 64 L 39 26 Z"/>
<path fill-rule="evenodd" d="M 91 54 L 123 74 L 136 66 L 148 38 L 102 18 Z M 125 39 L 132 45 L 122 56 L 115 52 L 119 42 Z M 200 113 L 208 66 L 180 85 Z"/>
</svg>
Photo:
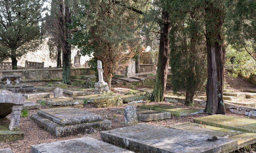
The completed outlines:
<svg viewBox="0 0 256 153">
<path fill-rule="evenodd" d="M 59 106 L 59 105 L 75 105 L 75 104 L 83 104 L 83 100 L 73 100 L 73 99 L 65 99 L 65 98 L 57 98 L 57 99 L 40 99 L 38 101 L 43 101 L 47 105 Z"/>
</svg>

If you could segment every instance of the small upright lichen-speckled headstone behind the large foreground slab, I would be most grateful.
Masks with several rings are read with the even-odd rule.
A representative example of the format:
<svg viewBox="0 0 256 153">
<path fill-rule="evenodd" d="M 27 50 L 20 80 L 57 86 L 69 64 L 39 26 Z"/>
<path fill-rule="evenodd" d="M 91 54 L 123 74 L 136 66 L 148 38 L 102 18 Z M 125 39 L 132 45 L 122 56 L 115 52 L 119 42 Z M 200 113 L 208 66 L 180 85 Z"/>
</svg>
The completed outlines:
<svg viewBox="0 0 256 153">
<path fill-rule="evenodd" d="M 128 105 L 125 107 L 125 126 L 131 126 L 138 124 L 138 116 L 136 107 L 133 105 Z"/>
</svg>

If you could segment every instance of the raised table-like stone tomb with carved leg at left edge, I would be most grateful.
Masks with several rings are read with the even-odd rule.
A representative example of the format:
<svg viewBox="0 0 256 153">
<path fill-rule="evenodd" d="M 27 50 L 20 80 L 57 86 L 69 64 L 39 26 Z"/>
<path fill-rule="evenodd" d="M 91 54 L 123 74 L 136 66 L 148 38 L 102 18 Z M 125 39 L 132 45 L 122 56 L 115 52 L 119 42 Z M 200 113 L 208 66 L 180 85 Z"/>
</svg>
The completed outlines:
<svg viewBox="0 0 256 153">
<path fill-rule="evenodd" d="M 10 91 L 0 91 L 0 118 L 4 118 L 12 113 L 9 129 L 11 131 L 19 129 L 19 118 L 22 105 L 24 105 L 24 97 L 20 94 Z"/>
</svg>

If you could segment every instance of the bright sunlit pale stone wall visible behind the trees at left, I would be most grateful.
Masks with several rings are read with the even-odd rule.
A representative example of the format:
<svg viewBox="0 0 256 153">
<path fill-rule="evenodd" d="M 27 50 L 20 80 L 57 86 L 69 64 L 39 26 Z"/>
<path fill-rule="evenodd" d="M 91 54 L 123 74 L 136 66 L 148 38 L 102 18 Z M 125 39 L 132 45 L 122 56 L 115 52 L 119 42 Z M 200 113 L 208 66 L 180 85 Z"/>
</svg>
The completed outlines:
<svg viewBox="0 0 256 153">
<path fill-rule="evenodd" d="M 44 67 L 56 67 L 57 62 L 52 61 L 49 56 L 49 48 L 47 46 L 48 38 L 44 40 L 44 42 L 40 45 L 40 47 L 35 52 L 29 52 L 26 55 L 23 55 L 20 59 L 18 59 L 18 66 L 25 67 L 25 61 L 31 62 L 44 62 Z M 76 55 L 77 49 L 72 49 L 71 52 L 71 63 L 74 63 L 74 56 Z M 85 64 L 85 61 L 90 59 L 89 56 L 81 56 L 80 63 L 81 66 Z M 4 62 L 12 62 L 11 59 Z"/>
</svg>

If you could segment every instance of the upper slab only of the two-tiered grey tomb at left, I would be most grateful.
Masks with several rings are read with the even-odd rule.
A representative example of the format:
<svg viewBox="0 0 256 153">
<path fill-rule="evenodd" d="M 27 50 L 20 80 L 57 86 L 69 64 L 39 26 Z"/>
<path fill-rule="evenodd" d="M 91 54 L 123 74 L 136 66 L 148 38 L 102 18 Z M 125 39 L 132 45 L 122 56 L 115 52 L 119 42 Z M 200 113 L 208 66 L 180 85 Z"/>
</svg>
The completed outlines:
<svg viewBox="0 0 256 153">
<path fill-rule="evenodd" d="M 100 115 L 72 107 L 41 109 L 37 114 L 62 126 L 102 120 Z"/>
</svg>

